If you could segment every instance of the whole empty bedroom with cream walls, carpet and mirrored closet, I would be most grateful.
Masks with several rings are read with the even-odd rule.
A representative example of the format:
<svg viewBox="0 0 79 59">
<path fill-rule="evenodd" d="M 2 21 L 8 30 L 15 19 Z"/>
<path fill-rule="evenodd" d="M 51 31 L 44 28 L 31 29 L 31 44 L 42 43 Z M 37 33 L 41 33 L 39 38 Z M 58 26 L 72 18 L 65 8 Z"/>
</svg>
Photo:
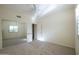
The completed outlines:
<svg viewBox="0 0 79 59">
<path fill-rule="evenodd" d="M 77 4 L 0 4 L 0 55 L 76 55 L 78 36 Z"/>
</svg>

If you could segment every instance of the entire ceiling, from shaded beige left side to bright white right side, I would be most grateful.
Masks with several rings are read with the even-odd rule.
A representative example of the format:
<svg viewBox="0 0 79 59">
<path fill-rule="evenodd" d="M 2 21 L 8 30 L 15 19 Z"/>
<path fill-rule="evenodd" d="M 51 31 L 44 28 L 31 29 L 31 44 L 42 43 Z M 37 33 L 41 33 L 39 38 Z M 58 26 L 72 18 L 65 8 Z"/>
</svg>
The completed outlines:
<svg viewBox="0 0 79 59">
<path fill-rule="evenodd" d="M 2 4 L 0 6 L 6 10 L 11 10 L 19 13 L 27 14 L 36 11 L 36 13 L 42 14 L 50 6 L 60 7 L 60 9 L 68 9 L 74 7 L 74 4 Z"/>
</svg>

